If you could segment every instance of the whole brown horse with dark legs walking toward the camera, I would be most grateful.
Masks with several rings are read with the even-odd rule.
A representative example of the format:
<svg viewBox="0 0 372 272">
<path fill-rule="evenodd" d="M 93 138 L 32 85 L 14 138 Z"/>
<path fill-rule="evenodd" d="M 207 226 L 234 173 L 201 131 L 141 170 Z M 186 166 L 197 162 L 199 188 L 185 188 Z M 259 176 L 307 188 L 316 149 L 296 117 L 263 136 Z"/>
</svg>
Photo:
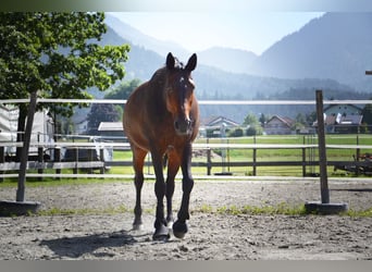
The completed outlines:
<svg viewBox="0 0 372 272">
<path fill-rule="evenodd" d="M 144 161 L 151 152 L 156 173 L 154 193 L 157 213 L 153 239 L 170 237 L 169 223 L 173 222 L 172 197 L 174 177 L 181 166 L 183 173 L 183 197 L 177 220 L 173 223 L 173 234 L 183 238 L 187 233 L 186 220 L 189 219 L 189 197 L 194 186 L 191 177 L 191 143 L 199 129 L 199 108 L 194 95 L 195 85 L 191 71 L 197 65 L 194 53 L 186 65 L 169 53 L 166 64 L 159 69 L 150 81 L 140 85 L 128 98 L 123 126 L 131 143 L 135 170 L 136 206 L 134 228 L 140 227 L 140 191 L 144 184 Z M 163 165 L 168 158 L 166 183 Z M 164 196 L 166 218 L 164 217 Z"/>
</svg>

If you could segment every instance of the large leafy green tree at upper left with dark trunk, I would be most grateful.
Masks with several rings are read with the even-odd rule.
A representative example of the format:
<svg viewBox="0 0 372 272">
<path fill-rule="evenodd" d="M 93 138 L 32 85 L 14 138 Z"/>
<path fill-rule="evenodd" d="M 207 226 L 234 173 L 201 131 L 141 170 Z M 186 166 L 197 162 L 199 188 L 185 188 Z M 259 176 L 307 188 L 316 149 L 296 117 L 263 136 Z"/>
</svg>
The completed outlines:
<svg viewBox="0 0 372 272">
<path fill-rule="evenodd" d="M 88 99 L 87 88 L 103 90 L 123 78 L 129 47 L 98 45 L 107 32 L 103 20 L 104 13 L 0 13 L 0 99 L 34 91 L 44 98 Z M 27 106 L 18 107 L 17 131 L 23 132 Z M 39 107 L 73 113 L 71 103 Z"/>
</svg>

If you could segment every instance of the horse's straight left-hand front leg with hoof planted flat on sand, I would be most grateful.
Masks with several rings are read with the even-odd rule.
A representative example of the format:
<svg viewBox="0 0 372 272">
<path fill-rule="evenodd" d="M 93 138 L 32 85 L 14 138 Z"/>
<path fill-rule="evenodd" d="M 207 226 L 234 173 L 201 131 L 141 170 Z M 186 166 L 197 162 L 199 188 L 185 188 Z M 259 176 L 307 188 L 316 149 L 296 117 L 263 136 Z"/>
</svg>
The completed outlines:
<svg viewBox="0 0 372 272">
<path fill-rule="evenodd" d="M 163 157 L 159 152 L 151 152 L 153 169 L 156 172 L 154 191 L 157 196 L 157 213 L 156 222 L 153 224 L 156 231 L 152 238 L 156 240 L 169 239 L 170 231 L 166 226 L 164 218 L 164 196 L 165 196 L 165 182 L 163 175 Z"/>
</svg>

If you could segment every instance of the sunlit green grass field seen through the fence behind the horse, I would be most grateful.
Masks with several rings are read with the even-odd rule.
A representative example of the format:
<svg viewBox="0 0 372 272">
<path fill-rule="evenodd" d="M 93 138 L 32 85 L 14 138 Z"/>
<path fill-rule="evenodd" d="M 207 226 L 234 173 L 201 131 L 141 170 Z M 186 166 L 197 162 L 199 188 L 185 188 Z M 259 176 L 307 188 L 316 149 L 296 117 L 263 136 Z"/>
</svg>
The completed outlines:
<svg viewBox="0 0 372 272">
<path fill-rule="evenodd" d="M 196 140 L 197 144 L 270 144 L 270 145 L 302 145 L 302 144 L 313 144 L 318 145 L 317 137 L 309 138 L 309 136 L 302 135 L 281 135 L 281 136 L 258 136 L 258 137 L 241 137 L 241 138 L 198 138 Z M 326 136 L 327 145 L 364 145 L 372 146 L 372 137 L 371 135 L 327 135 Z M 221 148 L 212 149 L 213 157 L 212 162 L 252 162 L 253 151 L 252 149 L 228 149 L 221 150 Z M 361 149 L 360 153 L 371 152 L 372 149 Z M 221 154 L 225 153 L 225 158 L 223 159 Z M 352 156 L 357 154 L 356 149 L 327 149 L 327 160 L 328 161 L 352 161 Z M 318 148 L 307 150 L 306 160 L 307 161 L 318 161 Z M 132 152 L 131 151 L 114 151 L 113 153 L 114 161 L 131 161 Z M 150 156 L 146 159 L 150 162 Z M 258 149 L 257 150 L 257 162 L 260 161 L 301 161 L 302 160 L 302 151 L 301 149 Z M 198 156 L 193 158 L 194 162 L 207 162 L 207 156 Z M 30 171 L 29 171 L 30 172 Z M 36 172 L 36 171 L 34 171 Z M 145 174 L 153 174 L 152 166 L 145 166 Z M 243 176 L 251 176 L 253 169 L 252 166 L 225 166 L 225 168 L 212 168 L 211 174 L 214 175 L 221 172 L 231 172 L 233 175 L 243 175 Z M 45 173 L 54 173 L 53 170 L 46 170 Z M 72 174 L 72 170 L 63 170 L 62 173 Z M 80 173 L 86 173 L 80 171 Z M 99 173 L 96 171 L 96 173 Z M 134 171 L 132 166 L 112 166 L 110 170 L 106 172 L 107 174 L 124 174 L 131 177 L 127 178 L 116 178 L 119 181 L 132 181 L 132 176 L 134 175 Z M 317 174 L 319 173 L 318 166 L 307 166 L 308 174 Z M 206 175 L 207 168 L 194 166 L 193 174 L 197 175 Z M 302 166 L 258 166 L 256 175 L 258 176 L 302 176 Z M 333 166 L 328 168 L 328 176 L 352 176 L 352 173 L 347 173 L 345 171 L 337 170 L 334 171 Z M 37 178 L 27 178 L 28 181 L 37 181 Z M 45 182 L 55 181 L 51 177 L 44 178 Z M 76 183 L 75 178 L 62 178 L 65 181 L 71 181 Z M 88 182 L 95 178 L 79 178 L 79 183 Z M 104 182 L 107 180 L 114 181 L 113 178 L 96 178 L 97 182 Z M 0 186 L 4 185 L 7 181 L 10 183 L 16 182 L 16 178 L 4 178 L 4 182 L 0 182 Z"/>
</svg>

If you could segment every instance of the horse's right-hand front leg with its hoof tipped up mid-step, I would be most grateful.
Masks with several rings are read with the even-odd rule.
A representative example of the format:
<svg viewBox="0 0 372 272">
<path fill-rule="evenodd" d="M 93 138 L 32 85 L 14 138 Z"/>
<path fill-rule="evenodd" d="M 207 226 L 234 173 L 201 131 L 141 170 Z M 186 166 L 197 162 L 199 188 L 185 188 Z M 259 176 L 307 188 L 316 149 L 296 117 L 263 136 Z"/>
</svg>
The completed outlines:
<svg viewBox="0 0 372 272">
<path fill-rule="evenodd" d="M 191 176 L 191 143 L 188 143 L 185 146 L 183 158 L 182 158 L 182 189 L 183 189 L 183 196 L 182 196 L 182 202 L 181 208 L 178 211 L 178 218 L 177 221 L 173 224 L 173 234 L 177 238 L 183 238 L 185 234 L 187 233 L 187 224 L 186 220 L 190 218 L 189 214 L 189 200 L 190 200 L 190 193 L 194 187 L 194 180 Z"/>
</svg>

